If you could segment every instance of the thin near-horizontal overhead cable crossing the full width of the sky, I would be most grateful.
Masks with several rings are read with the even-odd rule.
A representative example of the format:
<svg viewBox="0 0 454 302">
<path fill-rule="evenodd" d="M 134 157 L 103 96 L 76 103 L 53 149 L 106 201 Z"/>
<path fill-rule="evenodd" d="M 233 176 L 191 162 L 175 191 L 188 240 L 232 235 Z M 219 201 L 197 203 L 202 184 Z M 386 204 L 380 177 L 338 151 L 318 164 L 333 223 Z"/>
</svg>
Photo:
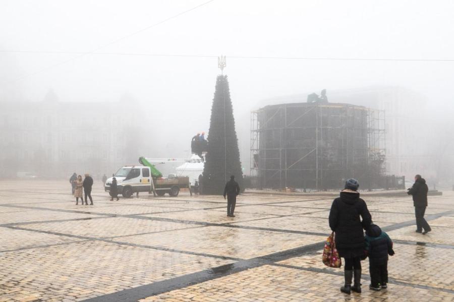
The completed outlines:
<svg viewBox="0 0 454 302">
<path fill-rule="evenodd" d="M 214 0 L 212 0 L 214 1 Z M 96 51 L 96 50 L 94 50 Z M 200 57 L 213 58 L 217 55 L 209 54 L 164 54 L 164 53 L 139 53 L 139 52 L 94 52 L 94 51 L 45 51 L 45 50 L 0 50 L 10 53 L 43 53 L 43 54 L 79 54 L 79 55 L 126 55 L 126 56 L 169 56 L 169 57 Z M 257 55 L 227 55 L 229 58 L 239 59 L 286 59 L 306 61 L 395 61 L 395 62 L 454 62 L 454 59 L 436 58 L 359 58 L 359 57 L 304 57 L 304 56 L 257 56 Z"/>
</svg>

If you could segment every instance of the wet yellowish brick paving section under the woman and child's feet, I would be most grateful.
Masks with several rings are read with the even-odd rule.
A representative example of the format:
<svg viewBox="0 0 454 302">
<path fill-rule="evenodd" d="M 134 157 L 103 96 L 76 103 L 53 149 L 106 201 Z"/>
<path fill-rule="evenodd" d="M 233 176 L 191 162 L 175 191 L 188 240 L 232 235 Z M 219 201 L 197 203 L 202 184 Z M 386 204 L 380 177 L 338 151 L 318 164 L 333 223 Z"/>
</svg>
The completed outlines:
<svg viewBox="0 0 454 302">
<path fill-rule="evenodd" d="M 141 301 L 452 301 L 453 293 L 390 284 L 388 289 L 350 296 L 339 294 L 343 277 L 297 269 L 262 266 Z"/>
</svg>

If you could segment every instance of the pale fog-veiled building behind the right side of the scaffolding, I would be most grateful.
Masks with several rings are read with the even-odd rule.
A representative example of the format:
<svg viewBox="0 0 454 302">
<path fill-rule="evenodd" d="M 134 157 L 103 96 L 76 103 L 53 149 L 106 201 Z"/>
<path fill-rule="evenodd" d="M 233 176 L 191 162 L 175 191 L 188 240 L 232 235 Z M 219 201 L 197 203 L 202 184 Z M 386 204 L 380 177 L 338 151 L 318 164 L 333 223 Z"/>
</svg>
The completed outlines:
<svg viewBox="0 0 454 302">
<path fill-rule="evenodd" d="M 432 139 L 426 130 L 428 119 L 425 96 L 402 87 L 376 86 L 331 93 L 339 101 L 385 110 L 386 114 L 386 172 L 434 177 Z"/>
</svg>

